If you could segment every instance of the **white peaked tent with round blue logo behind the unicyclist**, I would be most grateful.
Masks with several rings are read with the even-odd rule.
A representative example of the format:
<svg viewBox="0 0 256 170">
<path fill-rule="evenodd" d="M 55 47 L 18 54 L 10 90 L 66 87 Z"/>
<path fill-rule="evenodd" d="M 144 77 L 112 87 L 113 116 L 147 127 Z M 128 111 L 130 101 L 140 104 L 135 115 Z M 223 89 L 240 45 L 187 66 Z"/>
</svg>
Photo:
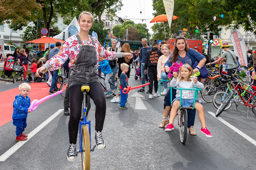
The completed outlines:
<svg viewBox="0 0 256 170">
<path fill-rule="evenodd" d="M 60 34 L 54 36 L 53 38 L 62 40 L 63 32 L 65 32 L 65 40 L 66 40 L 69 38 L 69 33 L 70 33 L 70 36 L 72 36 L 72 35 L 77 34 L 79 31 L 80 31 L 80 27 L 78 25 L 77 18 L 74 17 L 73 20 L 71 21 L 71 23 L 69 24 L 69 26 L 67 26 L 67 28 L 64 31 L 62 31 Z"/>
</svg>

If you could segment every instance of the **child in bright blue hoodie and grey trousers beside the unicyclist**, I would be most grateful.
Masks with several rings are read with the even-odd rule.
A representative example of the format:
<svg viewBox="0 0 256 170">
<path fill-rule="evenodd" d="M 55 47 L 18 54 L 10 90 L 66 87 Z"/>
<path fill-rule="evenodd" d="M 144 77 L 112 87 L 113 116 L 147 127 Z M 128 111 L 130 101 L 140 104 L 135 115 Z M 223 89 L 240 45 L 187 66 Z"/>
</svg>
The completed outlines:
<svg viewBox="0 0 256 170">
<path fill-rule="evenodd" d="M 106 97 L 109 97 L 111 96 L 113 93 L 111 92 L 111 88 L 110 88 L 110 84 L 109 84 L 109 81 L 110 79 L 112 78 L 113 76 L 113 73 L 112 73 L 112 70 L 111 70 L 111 67 L 109 65 L 109 61 L 100 57 L 99 56 L 99 65 L 98 65 L 98 69 L 101 69 L 102 70 L 102 73 L 104 73 L 104 84 L 106 86 L 106 89 L 108 91 L 107 94 L 105 94 Z"/>
</svg>

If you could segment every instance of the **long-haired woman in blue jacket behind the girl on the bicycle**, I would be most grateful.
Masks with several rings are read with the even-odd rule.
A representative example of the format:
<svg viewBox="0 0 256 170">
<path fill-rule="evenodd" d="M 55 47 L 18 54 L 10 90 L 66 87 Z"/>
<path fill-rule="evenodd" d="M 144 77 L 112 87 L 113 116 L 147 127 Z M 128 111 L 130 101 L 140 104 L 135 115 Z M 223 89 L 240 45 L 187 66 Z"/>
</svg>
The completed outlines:
<svg viewBox="0 0 256 170">
<path fill-rule="evenodd" d="M 184 36 L 177 36 L 175 39 L 175 46 L 173 49 L 172 54 L 170 55 L 168 61 L 164 65 L 165 71 L 168 73 L 170 67 L 172 66 L 172 63 L 183 63 L 183 64 L 189 64 L 193 66 L 195 62 L 198 61 L 199 64 L 194 69 L 194 72 L 197 73 L 200 68 L 203 67 L 205 64 L 206 58 L 196 50 L 189 48 L 187 45 L 186 39 Z M 169 123 L 168 115 L 171 111 L 171 97 L 170 97 L 170 90 L 168 90 L 167 94 L 164 97 L 164 115 L 163 120 L 161 124 L 159 125 L 159 128 L 164 128 Z M 172 98 L 174 99 L 176 95 L 176 90 L 172 90 Z M 194 131 L 193 126 L 195 122 L 195 110 L 188 109 L 187 111 L 187 127 L 189 128 L 189 132 L 191 135 L 196 135 L 197 133 Z"/>
</svg>

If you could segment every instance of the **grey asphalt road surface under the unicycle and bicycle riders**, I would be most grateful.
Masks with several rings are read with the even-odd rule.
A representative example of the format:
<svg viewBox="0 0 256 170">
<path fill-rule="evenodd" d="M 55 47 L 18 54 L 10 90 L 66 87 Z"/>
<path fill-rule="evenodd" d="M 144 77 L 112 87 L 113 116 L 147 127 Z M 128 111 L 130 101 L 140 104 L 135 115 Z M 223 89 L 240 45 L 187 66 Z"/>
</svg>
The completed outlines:
<svg viewBox="0 0 256 170">
<path fill-rule="evenodd" d="M 131 71 L 129 85 L 140 85 L 141 82 L 133 76 L 134 69 Z M 20 83 L 1 84 L 0 92 L 16 88 Z M 163 116 L 164 97 L 148 99 L 146 92 L 140 93 L 144 96 L 140 99 L 146 107 L 146 110 L 141 110 L 135 109 L 136 97 L 132 97 L 137 95 L 135 93 L 137 90 L 129 92 L 127 110 L 119 109 L 118 103 L 110 103 L 112 97 L 106 99 L 107 112 L 102 133 L 106 148 L 91 152 L 91 169 L 255 169 L 256 116 L 251 109 L 249 119 L 247 109 L 241 103 L 238 111 L 232 105 L 219 116 L 221 121 L 228 122 L 251 137 L 251 142 L 245 139 L 247 136 L 243 137 L 243 134 L 238 133 L 237 129 L 230 128 L 229 124 L 227 126 L 226 122 L 212 116 L 209 112 L 215 114 L 215 107 L 212 103 L 204 102 L 206 125 L 213 137 L 208 138 L 200 132 L 201 124 L 197 113 L 194 126 L 197 135 L 188 134 L 187 142 L 183 145 L 179 139 L 177 118 L 173 131 L 165 132 L 164 128 L 158 128 Z M 63 109 L 63 99 L 61 95 L 57 95 L 42 103 L 28 115 L 28 126 L 24 132 L 32 132 L 59 109 Z M 199 99 L 203 100 L 201 95 Z M 91 104 L 88 119 L 92 125 L 92 144 L 95 144 L 95 105 L 92 101 Z M 75 162 L 66 160 L 69 147 L 68 121 L 69 116 L 64 116 L 61 111 L 5 161 L 0 161 L 0 169 L 82 169 L 81 154 Z M 16 143 L 21 143 L 15 141 L 15 126 L 12 121 L 0 127 L 0 136 L 0 157 Z"/>
</svg>

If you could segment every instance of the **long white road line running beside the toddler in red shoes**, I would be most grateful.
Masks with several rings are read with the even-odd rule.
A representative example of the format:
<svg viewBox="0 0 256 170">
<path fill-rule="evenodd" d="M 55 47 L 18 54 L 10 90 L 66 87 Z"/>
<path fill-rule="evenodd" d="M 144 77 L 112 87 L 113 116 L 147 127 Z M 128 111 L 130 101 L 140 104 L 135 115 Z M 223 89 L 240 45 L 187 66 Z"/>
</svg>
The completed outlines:
<svg viewBox="0 0 256 170">
<path fill-rule="evenodd" d="M 28 139 L 26 141 L 19 141 L 9 150 L 7 150 L 3 155 L 0 156 L 0 161 L 5 161 L 9 156 L 11 156 L 16 150 L 18 150 L 22 145 L 24 145 L 29 139 L 31 139 L 36 133 L 38 133 L 42 128 L 44 128 L 49 122 L 51 122 L 56 116 L 58 116 L 64 109 L 59 109 L 53 115 L 51 115 L 46 121 L 40 124 L 36 129 L 32 130 L 28 134 Z"/>
</svg>

